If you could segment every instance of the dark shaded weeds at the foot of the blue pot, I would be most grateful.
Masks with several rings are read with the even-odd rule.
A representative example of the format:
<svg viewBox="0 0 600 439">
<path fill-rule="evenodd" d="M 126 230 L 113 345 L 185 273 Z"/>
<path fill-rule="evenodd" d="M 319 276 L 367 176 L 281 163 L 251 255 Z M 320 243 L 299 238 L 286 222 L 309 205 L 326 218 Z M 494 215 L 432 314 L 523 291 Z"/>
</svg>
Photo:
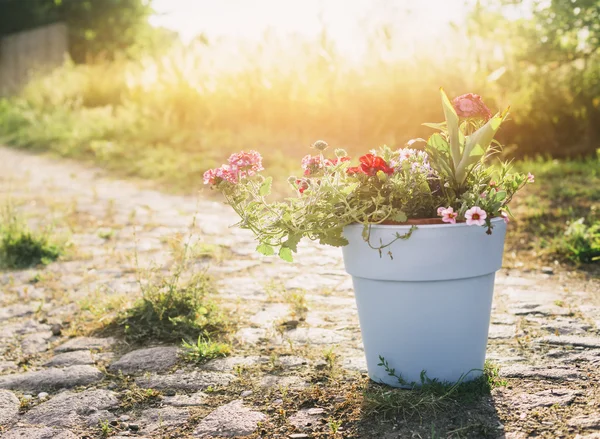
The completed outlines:
<svg viewBox="0 0 600 439">
<path fill-rule="evenodd" d="M 482 376 L 457 383 L 445 383 L 427 377 L 421 373 L 420 383 L 406 383 L 390 369 L 382 359 L 382 365 L 390 376 L 398 378 L 400 384 L 411 385 L 411 389 L 390 389 L 387 386 L 374 385 L 364 394 L 365 411 L 385 419 L 399 416 L 405 420 L 435 416 L 449 412 L 453 407 L 470 404 L 481 397 L 490 395 L 494 387 L 506 385 L 498 376 L 498 368 L 486 362 Z"/>
</svg>

